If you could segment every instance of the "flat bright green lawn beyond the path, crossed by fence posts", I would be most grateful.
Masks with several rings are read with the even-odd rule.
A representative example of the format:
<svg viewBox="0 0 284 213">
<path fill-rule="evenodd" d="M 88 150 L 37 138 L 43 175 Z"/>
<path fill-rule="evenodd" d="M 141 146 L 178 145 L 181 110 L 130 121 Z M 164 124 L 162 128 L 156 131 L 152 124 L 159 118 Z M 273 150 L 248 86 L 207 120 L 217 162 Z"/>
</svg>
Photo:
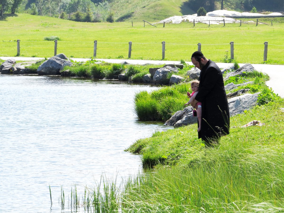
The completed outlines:
<svg viewBox="0 0 284 213">
<path fill-rule="evenodd" d="M 256 21 L 256 20 L 254 20 Z M 266 20 L 269 22 L 269 20 Z M 279 20 L 278 20 L 279 21 Z M 16 40 L 20 39 L 20 56 L 51 57 L 54 42 L 44 37 L 58 36 L 57 53 L 67 57 L 128 58 L 128 42 L 132 41 L 131 59 L 162 59 L 162 41 L 166 42 L 165 60 L 190 61 L 191 54 L 201 43 L 201 51 L 209 59 L 222 62 L 234 41 L 234 56 L 239 63 L 262 63 L 264 42 L 268 41 L 268 61 L 284 64 L 284 23 L 273 26 L 256 23 L 208 25 L 183 22 L 157 27 L 143 22 L 86 23 L 29 14 L 5 14 L 1 23 L 0 56 L 17 54 Z M 10 41 L 10 42 L 9 42 Z M 229 51 L 229 52 L 226 52 Z"/>
</svg>

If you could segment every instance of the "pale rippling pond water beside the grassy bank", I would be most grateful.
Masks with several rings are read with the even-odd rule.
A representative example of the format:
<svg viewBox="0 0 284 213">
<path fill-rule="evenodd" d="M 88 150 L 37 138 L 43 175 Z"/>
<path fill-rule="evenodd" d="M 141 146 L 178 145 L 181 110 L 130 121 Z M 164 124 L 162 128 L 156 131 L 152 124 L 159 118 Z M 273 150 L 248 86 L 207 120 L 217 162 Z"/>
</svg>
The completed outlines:
<svg viewBox="0 0 284 213">
<path fill-rule="evenodd" d="M 0 75 L 0 85 L 0 212 L 72 212 L 61 186 L 67 202 L 75 184 L 82 199 L 102 175 L 135 176 L 140 156 L 124 149 L 171 128 L 136 118 L 135 93 L 153 85 L 37 75 Z"/>
</svg>

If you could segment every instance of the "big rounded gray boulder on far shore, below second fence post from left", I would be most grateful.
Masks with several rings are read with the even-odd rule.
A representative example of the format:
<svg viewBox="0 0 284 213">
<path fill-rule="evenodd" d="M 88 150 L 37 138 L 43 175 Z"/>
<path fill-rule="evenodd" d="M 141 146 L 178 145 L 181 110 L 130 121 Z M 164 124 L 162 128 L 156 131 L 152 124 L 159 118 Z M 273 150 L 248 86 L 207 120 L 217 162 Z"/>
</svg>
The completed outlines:
<svg viewBox="0 0 284 213">
<path fill-rule="evenodd" d="M 60 57 L 64 54 L 59 54 Z M 60 70 L 64 68 L 64 66 L 72 66 L 72 62 L 61 59 L 58 56 L 53 56 L 47 61 L 43 62 L 38 68 L 37 73 L 39 75 L 60 75 Z"/>
</svg>

